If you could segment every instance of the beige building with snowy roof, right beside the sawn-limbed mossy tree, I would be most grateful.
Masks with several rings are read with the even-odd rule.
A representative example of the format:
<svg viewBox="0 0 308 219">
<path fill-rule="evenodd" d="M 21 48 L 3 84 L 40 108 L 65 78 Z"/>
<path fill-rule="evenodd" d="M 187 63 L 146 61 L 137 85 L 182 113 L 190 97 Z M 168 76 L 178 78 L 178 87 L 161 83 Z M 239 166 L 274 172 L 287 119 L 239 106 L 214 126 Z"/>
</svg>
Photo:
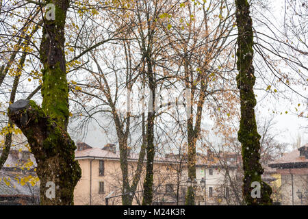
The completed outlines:
<svg viewBox="0 0 308 219">
<path fill-rule="evenodd" d="M 176 156 L 166 155 L 155 158 L 154 162 L 154 205 L 183 204 L 185 197 L 185 179 L 183 166 Z M 120 170 L 120 155 L 113 144 L 107 144 L 103 149 L 92 148 L 85 143 L 77 143 L 75 159 L 81 167 L 81 179 L 74 192 L 75 205 L 105 205 L 105 197 L 118 196 L 108 199 L 108 205 L 121 205 L 122 173 Z M 129 155 L 129 179 L 136 170 L 138 155 Z M 181 166 L 182 165 L 182 166 Z M 138 188 L 133 195 L 133 205 L 142 203 L 142 185 L 144 183 L 146 162 Z M 186 171 L 187 172 L 187 171 Z"/>
</svg>

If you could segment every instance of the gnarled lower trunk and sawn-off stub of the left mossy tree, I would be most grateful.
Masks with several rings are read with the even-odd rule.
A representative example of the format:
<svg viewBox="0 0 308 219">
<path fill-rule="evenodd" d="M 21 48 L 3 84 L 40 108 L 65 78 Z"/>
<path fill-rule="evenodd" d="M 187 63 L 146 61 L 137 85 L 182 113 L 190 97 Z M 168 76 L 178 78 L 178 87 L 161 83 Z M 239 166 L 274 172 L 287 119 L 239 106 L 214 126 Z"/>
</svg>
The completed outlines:
<svg viewBox="0 0 308 219">
<path fill-rule="evenodd" d="M 10 119 L 27 137 L 36 158 L 41 205 L 72 205 L 74 188 L 81 177 L 73 140 L 34 101 L 16 101 L 8 112 Z M 55 184 L 55 198 L 46 195 L 49 181 Z"/>
</svg>

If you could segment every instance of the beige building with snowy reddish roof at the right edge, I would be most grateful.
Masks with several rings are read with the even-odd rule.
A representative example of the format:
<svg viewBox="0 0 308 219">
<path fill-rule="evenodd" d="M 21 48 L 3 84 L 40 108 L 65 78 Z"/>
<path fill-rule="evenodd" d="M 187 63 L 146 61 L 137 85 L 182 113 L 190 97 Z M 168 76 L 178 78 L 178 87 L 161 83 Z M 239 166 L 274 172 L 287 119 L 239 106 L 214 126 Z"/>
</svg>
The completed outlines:
<svg viewBox="0 0 308 219">
<path fill-rule="evenodd" d="M 281 175 L 281 205 L 308 205 L 308 145 L 271 162 Z"/>
</svg>

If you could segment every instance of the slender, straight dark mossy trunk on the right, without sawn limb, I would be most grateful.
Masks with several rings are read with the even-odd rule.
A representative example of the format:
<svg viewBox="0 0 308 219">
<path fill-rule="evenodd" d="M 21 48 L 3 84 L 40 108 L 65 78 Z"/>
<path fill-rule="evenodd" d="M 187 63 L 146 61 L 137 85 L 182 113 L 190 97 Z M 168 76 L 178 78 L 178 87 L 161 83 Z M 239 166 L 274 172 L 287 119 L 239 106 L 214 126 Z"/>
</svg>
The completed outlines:
<svg viewBox="0 0 308 219">
<path fill-rule="evenodd" d="M 235 0 L 236 22 L 238 25 L 238 76 L 240 89 L 241 120 L 238 140 L 242 143 L 242 159 L 244 168 L 243 196 L 247 205 L 271 205 L 272 189 L 261 180 L 264 170 L 259 163 L 260 136 L 255 120 L 256 105 L 253 86 L 255 85 L 255 70 L 253 68 L 253 22 L 247 0 Z M 261 185 L 261 196 L 253 198 L 251 191 L 253 182 Z"/>
</svg>

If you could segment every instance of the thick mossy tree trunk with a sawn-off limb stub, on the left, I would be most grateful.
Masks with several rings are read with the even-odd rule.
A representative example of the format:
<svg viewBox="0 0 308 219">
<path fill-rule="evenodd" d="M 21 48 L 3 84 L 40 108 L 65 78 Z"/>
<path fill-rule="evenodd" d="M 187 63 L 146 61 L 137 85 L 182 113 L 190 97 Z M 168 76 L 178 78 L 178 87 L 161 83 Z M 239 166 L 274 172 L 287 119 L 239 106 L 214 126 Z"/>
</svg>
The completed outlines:
<svg viewBox="0 0 308 219">
<path fill-rule="evenodd" d="M 10 105 L 8 114 L 27 137 L 36 158 L 40 204 L 73 205 L 73 192 L 81 169 L 75 161 L 75 143 L 66 130 L 69 112 L 64 25 L 69 1 L 49 0 L 47 3 L 55 5 L 55 19 L 45 17 L 42 29 L 42 108 L 34 101 L 21 100 Z M 55 185 L 54 198 L 48 195 L 52 190 L 48 182 Z"/>
</svg>

